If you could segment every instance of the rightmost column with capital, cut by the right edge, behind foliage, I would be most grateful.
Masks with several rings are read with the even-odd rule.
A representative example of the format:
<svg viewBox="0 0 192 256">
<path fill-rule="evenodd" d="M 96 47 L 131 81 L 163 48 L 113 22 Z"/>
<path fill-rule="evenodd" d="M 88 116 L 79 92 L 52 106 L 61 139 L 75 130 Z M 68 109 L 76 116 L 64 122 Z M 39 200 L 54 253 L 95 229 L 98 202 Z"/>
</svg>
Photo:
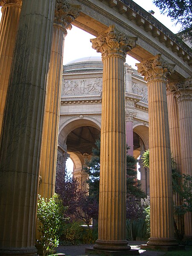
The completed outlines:
<svg viewBox="0 0 192 256">
<path fill-rule="evenodd" d="M 175 84 L 175 97 L 178 103 L 181 170 L 182 173 L 192 176 L 192 79 L 186 79 Z M 184 237 L 192 239 L 192 215 L 184 215 Z"/>
</svg>

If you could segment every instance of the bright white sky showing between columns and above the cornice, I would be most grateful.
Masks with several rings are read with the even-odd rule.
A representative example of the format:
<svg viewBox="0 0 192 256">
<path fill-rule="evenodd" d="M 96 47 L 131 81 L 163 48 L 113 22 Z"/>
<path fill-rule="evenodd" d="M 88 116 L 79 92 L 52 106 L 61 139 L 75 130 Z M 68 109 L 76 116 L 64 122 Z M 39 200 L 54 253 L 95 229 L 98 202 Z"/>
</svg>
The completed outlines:
<svg viewBox="0 0 192 256">
<path fill-rule="evenodd" d="M 162 15 L 160 10 L 152 3 L 152 0 L 134 0 L 135 3 L 140 5 L 147 12 L 149 10 L 154 11 L 154 17 L 159 20 L 163 25 L 165 25 L 168 29 L 170 29 L 173 33 L 177 33 L 180 30 L 179 26 L 175 26 L 171 19 L 166 15 Z M 0 12 L 1 19 L 1 12 Z M 96 50 L 92 48 L 92 44 L 90 43 L 90 39 L 95 38 L 93 35 L 90 35 L 87 32 L 73 26 L 71 30 L 68 30 L 67 36 L 65 37 L 64 42 L 64 61 L 63 64 L 67 64 L 70 61 L 90 57 L 90 56 L 101 56 L 100 53 L 97 53 Z M 133 68 L 135 67 L 135 63 L 139 61 L 135 60 L 131 56 L 127 55 L 126 63 L 131 65 Z M 67 160 L 66 165 L 68 166 L 68 170 L 73 170 L 73 165 L 71 160 Z M 139 177 L 138 177 L 139 178 Z"/>
</svg>

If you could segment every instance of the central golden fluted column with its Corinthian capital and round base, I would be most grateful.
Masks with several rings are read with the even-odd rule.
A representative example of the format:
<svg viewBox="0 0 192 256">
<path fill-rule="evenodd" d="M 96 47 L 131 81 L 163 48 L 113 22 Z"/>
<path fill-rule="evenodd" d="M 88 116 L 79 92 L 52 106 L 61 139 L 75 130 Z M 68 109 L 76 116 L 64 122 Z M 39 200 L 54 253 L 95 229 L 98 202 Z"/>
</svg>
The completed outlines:
<svg viewBox="0 0 192 256">
<path fill-rule="evenodd" d="M 118 32 L 113 25 L 91 39 L 93 49 L 102 53 L 103 61 L 99 234 L 94 245 L 100 250 L 130 249 L 125 235 L 124 62 L 136 39 Z"/>
</svg>

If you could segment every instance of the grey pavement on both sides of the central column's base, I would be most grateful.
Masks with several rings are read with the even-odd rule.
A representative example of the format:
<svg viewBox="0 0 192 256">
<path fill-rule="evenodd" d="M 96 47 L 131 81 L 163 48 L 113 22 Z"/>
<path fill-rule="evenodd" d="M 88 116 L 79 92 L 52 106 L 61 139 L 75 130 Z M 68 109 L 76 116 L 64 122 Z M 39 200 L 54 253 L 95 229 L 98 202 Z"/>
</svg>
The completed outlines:
<svg viewBox="0 0 192 256">
<path fill-rule="evenodd" d="M 146 241 L 128 241 L 131 249 L 140 249 L 140 244 L 145 244 Z M 57 253 L 65 253 L 66 256 L 87 256 L 85 248 L 93 247 L 93 244 L 81 244 L 64 246 L 60 245 L 57 249 Z M 139 250 L 141 256 L 160 256 L 165 255 L 162 251 L 146 251 Z"/>
</svg>

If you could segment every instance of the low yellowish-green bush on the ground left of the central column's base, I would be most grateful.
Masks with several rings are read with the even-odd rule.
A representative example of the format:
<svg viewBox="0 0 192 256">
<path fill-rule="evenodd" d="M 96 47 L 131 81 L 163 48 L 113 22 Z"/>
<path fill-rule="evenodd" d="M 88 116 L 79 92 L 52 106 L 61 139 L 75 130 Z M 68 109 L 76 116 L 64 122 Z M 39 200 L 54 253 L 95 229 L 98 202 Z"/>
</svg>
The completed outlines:
<svg viewBox="0 0 192 256">
<path fill-rule="evenodd" d="M 60 245 L 90 244 L 97 239 L 95 230 L 84 227 L 80 222 L 67 223 L 61 236 Z"/>
</svg>

